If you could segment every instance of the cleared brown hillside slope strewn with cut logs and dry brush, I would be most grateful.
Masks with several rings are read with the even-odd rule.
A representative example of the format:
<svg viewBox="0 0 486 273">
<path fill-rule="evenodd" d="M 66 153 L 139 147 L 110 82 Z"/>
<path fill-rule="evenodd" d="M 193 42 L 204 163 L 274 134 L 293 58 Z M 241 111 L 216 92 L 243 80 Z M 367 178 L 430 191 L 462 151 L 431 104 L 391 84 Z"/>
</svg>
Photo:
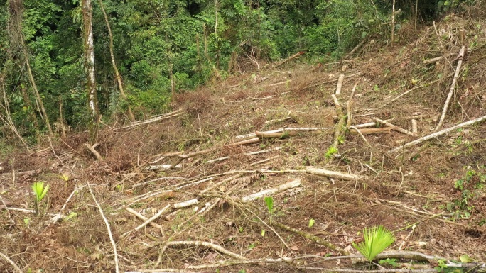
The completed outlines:
<svg viewBox="0 0 486 273">
<path fill-rule="evenodd" d="M 368 41 L 339 63 L 290 60 L 179 94 L 166 116 L 105 125 L 103 160 L 86 133 L 13 154 L 2 164 L 0 252 L 21 272 L 437 272 L 485 262 L 485 122 L 392 151 L 486 116 L 484 18 L 480 9 L 450 15 L 403 28 L 393 48 Z M 418 132 L 376 123 L 367 129 L 383 129 L 353 134 L 350 117 L 408 131 L 414 119 Z M 36 181 L 50 184 L 38 215 Z M 267 189 L 276 190 L 252 199 Z M 65 218 L 54 222 L 57 213 Z M 377 225 L 394 232 L 382 260 L 395 260 L 369 267 L 352 243 Z M 1 272 L 16 272 L 0 261 Z M 474 265 L 458 270 L 484 270 Z"/>
</svg>

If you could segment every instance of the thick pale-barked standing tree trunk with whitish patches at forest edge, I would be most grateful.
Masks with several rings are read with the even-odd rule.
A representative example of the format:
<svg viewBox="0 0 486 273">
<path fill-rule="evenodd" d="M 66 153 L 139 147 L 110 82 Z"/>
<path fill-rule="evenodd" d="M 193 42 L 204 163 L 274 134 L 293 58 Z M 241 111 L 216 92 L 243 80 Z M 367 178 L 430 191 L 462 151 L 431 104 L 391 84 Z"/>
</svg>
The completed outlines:
<svg viewBox="0 0 486 273">
<path fill-rule="evenodd" d="M 99 109 L 96 95 L 95 78 L 95 47 L 93 45 L 91 0 L 82 0 L 82 38 L 85 45 L 85 67 L 87 70 L 88 106 L 91 112 L 90 144 L 94 145 L 98 138 Z"/>
</svg>

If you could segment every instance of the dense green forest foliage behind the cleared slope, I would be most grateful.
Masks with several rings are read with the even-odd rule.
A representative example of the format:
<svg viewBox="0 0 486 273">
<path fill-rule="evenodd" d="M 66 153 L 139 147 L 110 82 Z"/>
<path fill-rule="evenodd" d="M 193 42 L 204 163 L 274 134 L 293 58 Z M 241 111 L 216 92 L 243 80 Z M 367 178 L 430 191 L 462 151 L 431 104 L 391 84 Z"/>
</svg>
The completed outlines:
<svg viewBox="0 0 486 273">
<path fill-rule="evenodd" d="M 0 24 L 9 22 L 0 1 Z M 128 101 L 122 101 L 109 55 L 109 35 L 99 1 L 92 1 L 99 108 L 104 118 L 129 104 L 138 118 L 166 111 L 171 79 L 182 92 L 228 72 L 232 56 L 269 62 L 304 50 L 322 60 L 340 57 L 370 36 L 389 35 L 391 1 L 375 0 L 104 0 L 114 38 L 114 57 Z M 411 1 L 396 1 L 412 16 Z M 413 1 L 415 2 L 415 1 Z M 422 20 L 460 1 L 419 1 Z M 412 5 L 412 6 L 410 6 Z M 419 18 L 419 19 L 420 19 Z M 85 128 L 89 114 L 79 0 L 24 0 L 22 33 L 33 77 L 51 123 L 63 117 Z M 35 135 L 38 117 L 25 63 L 6 28 L 0 28 L 0 62 L 10 113 L 21 135 Z M 252 64 L 252 62 L 242 62 Z M 239 69 L 255 69 L 255 67 Z M 38 125 L 38 126 L 37 126 Z M 4 132 L 6 133 L 6 132 Z M 10 133 L 8 133 L 10 134 Z"/>
</svg>

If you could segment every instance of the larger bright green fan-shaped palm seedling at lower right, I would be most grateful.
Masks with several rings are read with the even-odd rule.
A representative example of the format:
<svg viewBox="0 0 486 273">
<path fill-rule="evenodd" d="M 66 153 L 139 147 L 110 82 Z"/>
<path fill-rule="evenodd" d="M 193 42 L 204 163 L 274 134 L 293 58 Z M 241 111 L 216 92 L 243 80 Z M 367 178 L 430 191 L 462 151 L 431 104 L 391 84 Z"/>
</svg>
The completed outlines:
<svg viewBox="0 0 486 273">
<path fill-rule="evenodd" d="M 352 243 L 352 246 L 365 256 L 369 262 L 372 262 L 379 253 L 395 241 L 393 233 L 384 228 L 383 225 L 365 228 L 363 235 L 365 236 L 365 242 Z"/>
</svg>

